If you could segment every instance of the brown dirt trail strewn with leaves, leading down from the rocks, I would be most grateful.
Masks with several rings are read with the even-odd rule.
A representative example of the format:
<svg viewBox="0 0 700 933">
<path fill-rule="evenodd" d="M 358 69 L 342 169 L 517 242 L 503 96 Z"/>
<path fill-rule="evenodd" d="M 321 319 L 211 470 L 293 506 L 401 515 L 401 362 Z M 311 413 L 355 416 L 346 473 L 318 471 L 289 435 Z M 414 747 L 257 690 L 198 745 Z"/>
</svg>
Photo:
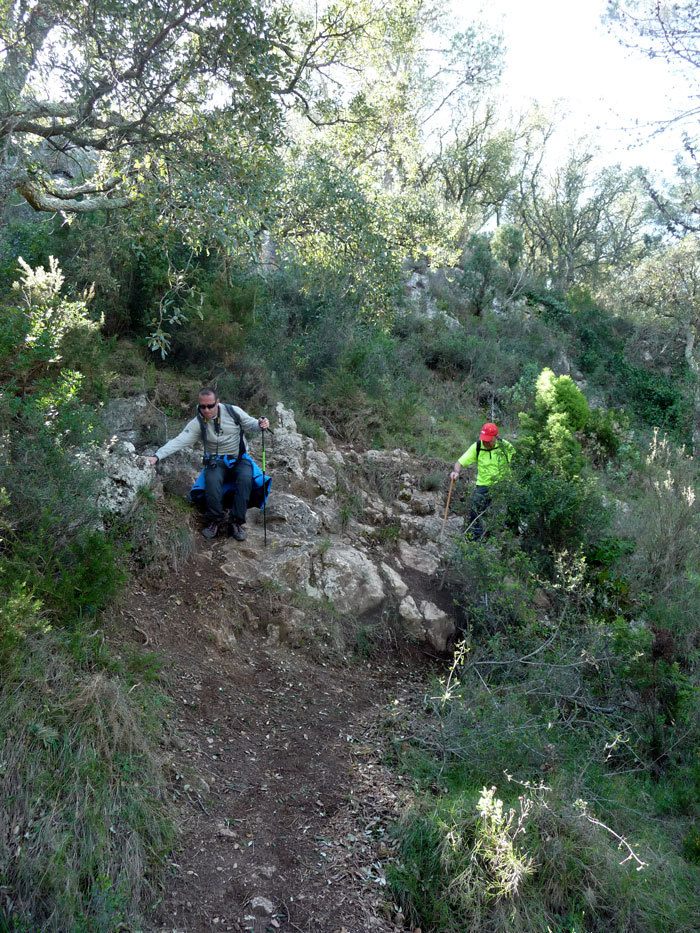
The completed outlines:
<svg viewBox="0 0 700 933">
<path fill-rule="evenodd" d="M 164 753 L 183 835 L 150 929 L 404 931 L 384 865 L 405 793 L 379 750 L 387 704 L 420 693 L 420 675 L 272 647 L 217 547 L 198 542 L 167 586 L 135 583 L 119 620 L 165 658 L 173 701 Z"/>
</svg>

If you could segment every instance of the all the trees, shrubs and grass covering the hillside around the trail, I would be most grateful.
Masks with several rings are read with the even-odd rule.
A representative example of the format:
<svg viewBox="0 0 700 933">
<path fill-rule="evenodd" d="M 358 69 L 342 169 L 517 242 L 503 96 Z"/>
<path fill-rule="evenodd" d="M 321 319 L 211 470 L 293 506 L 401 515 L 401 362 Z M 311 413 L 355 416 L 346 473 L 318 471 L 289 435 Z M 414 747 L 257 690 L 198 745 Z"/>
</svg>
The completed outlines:
<svg viewBox="0 0 700 933">
<path fill-rule="evenodd" d="M 136 930 L 158 899 L 160 661 L 105 633 L 187 545 L 148 490 L 99 514 L 93 455 L 110 398 L 177 421 L 203 383 L 400 447 L 426 488 L 486 420 L 517 449 L 436 580 L 454 656 L 391 711 L 406 922 L 698 929 L 692 139 L 661 182 L 590 140 L 554 164 L 555 117 L 499 108 L 499 37 L 438 3 L 132 6 L 0 12 L 0 930 Z M 653 43 L 690 8 L 612 16 Z"/>
</svg>

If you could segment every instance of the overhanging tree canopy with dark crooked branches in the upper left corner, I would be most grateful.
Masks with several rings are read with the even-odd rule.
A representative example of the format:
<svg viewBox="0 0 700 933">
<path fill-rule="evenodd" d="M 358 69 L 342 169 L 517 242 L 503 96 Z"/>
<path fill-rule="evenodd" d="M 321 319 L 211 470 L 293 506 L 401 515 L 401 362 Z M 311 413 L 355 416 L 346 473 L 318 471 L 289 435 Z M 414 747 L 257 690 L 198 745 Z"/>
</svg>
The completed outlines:
<svg viewBox="0 0 700 933">
<path fill-rule="evenodd" d="M 274 138 L 298 80 L 289 27 L 258 0 L 3 0 L 0 205 L 123 206 L 139 156 L 186 161 L 223 115 Z"/>
</svg>

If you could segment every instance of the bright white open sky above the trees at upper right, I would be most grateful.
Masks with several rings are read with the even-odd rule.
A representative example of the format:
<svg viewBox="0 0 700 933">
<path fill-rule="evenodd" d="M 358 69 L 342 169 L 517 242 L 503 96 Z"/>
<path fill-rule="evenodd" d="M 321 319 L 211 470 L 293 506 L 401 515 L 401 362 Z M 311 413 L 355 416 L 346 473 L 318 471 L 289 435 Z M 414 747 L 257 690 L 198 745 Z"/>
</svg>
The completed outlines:
<svg viewBox="0 0 700 933">
<path fill-rule="evenodd" d="M 465 20 L 505 36 L 501 91 L 516 112 L 561 100 L 571 138 L 597 140 L 605 163 L 643 164 L 667 175 L 679 133 L 652 136 L 654 121 L 683 106 L 683 82 L 667 63 L 623 48 L 601 22 L 606 0 L 454 0 Z M 642 141 L 642 145 L 638 143 Z M 562 146 L 564 145 L 561 141 Z"/>
</svg>

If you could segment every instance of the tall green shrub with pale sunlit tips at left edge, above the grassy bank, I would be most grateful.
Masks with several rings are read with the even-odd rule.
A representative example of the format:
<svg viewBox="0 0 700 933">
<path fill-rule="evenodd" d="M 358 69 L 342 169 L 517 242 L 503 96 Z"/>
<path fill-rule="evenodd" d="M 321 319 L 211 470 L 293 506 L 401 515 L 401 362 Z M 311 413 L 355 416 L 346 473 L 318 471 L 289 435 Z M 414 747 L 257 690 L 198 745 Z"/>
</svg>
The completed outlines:
<svg viewBox="0 0 700 933">
<path fill-rule="evenodd" d="M 61 366 L 64 347 L 90 322 L 83 302 L 62 298 L 53 258 L 48 270 L 20 265 L 15 291 L 23 307 L 7 309 L 0 325 L 0 425 L 12 466 L 0 503 L 0 588 L 8 606 L 24 601 L 43 619 L 72 625 L 107 605 L 121 580 L 114 540 L 96 531 L 94 414 L 80 400 L 82 374 Z M 16 620 L 4 628 L 12 641 Z"/>
</svg>

